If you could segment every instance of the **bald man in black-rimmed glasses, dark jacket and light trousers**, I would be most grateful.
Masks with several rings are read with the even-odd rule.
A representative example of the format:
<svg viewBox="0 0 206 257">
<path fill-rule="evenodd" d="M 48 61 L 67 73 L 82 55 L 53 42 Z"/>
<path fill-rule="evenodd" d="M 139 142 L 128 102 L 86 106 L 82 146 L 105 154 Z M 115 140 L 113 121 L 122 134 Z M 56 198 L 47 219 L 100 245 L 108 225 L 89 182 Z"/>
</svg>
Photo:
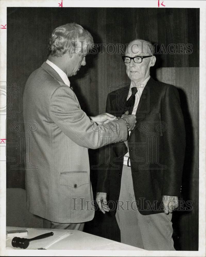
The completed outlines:
<svg viewBox="0 0 206 257">
<path fill-rule="evenodd" d="M 150 77 L 153 50 L 137 39 L 122 57 L 131 82 L 108 95 L 106 112 L 128 111 L 137 123 L 126 142 L 102 149 L 107 161 L 98 172 L 96 200 L 108 219 L 115 215 L 122 243 L 175 250 L 171 218 L 180 196 L 185 127 L 177 89 Z"/>
</svg>

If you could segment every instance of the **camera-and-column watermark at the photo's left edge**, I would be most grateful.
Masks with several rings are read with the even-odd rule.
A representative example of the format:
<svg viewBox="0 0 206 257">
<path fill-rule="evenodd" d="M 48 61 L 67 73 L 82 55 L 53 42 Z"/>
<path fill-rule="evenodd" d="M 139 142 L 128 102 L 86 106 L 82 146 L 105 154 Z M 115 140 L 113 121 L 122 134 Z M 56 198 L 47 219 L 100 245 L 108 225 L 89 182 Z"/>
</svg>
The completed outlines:
<svg viewBox="0 0 206 257">
<path fill-rule="evenodd" d="M 10 169 L 24 169 L 24 165 L 27 163 L 27 169 L 38 169 L 38 166 L 31 164 L 30 160 L 30 136 L 31 133 L 38 130 L 38 124 L 33 121 L 13 121 L 18 113 L 22 112 L 22 100 L 21 100 L 21 88 L 17 87 L 16 83 L 8 85 L 6 81 L 0 82 L 0 94 L 6 97 L 5 104 L 1 104 L 0 114 L 6 114 L 6 124 L 12 133 L 17 133 L 16 142 L 8 142 L 5 140 L 1 142 L 1 147 L 5 148 L 6 160 L 1 159 L 0 161 L 8 161 L 12 164 Z M 2 138 L 2 135 L 1 135 Z M 26 148 L 27 146 L 27 148 Z M 9 156 L 10 151 L 7 149 L 17 149 L 17 158 Z"/>
</svg>

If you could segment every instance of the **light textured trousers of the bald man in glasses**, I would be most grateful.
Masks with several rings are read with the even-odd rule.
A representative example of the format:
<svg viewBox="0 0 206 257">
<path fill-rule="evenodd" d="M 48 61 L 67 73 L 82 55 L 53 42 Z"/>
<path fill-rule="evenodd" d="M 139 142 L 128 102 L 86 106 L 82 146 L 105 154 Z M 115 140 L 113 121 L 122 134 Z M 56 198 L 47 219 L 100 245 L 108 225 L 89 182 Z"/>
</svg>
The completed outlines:
<svg viewBox="0 0 206 257">
<path fill-rule="evenodd" d="M 131 168 L 123 165 L 116 219 L 121 243 L 145 250 L 175 250 L 172 239 L 172 214 L 142 215 L 134 195 Z"/>
</svg>

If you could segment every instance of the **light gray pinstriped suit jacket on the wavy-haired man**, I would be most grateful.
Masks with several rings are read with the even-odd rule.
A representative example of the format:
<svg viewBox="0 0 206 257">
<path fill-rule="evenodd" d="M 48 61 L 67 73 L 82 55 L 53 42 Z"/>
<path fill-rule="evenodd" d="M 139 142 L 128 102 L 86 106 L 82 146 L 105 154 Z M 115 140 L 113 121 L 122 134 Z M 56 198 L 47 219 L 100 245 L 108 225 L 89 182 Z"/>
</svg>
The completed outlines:
<svg viewBox="0 0 206 257">
<path fill-rule="evenodd" d="M 26 146 L 29 212 L 58 223 L 93 219 L 88 148 L 125 141 L 125 122 L 120 119 L 100 127 L 90 121 L 73 90 L 46 62 L 27 80 L 23 115 L 25 125 L 37 124 Z"/>
</svg>

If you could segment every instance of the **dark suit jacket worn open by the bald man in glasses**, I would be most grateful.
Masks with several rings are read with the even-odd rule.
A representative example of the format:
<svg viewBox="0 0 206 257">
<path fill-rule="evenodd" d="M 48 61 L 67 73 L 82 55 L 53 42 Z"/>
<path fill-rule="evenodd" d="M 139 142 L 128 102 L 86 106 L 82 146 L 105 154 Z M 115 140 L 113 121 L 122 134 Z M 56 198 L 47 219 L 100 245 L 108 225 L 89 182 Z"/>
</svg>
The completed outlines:
<svg viewBox="0 0 206 257">
<path fill-rule="evenodd" d="M 106 112 L 124 113 L 129 85 L 108 95 Z M 163 212 L 162 196 L 179 196 L 185 155 L 185 126 L 177 89 L 149 79 L 128 138 L 135 199 L 143 215 Z M 98 170 L 97 192 L 108 194 L 115 213 L 121 185 L 125 143 L 103 147 L 105 162 Z"/>
</svg>

